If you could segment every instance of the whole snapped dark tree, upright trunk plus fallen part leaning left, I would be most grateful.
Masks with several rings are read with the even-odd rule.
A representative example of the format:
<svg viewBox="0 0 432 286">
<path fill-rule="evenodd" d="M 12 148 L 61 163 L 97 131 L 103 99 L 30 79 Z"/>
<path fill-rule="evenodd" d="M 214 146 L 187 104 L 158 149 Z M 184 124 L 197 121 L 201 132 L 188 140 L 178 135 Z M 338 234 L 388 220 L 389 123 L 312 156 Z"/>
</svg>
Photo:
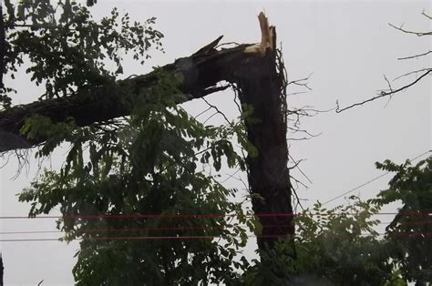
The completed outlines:
<svg viewBox="0 0 432 286">
<path fill-rule="evenodd" d="M 258 150 L 257 157 L 248 157 L 249 184 L 252 207 L 262 224 L 258 238 L 260 249 L 285 235 L 293 235 L 293 208 L 286 142 L 286 122 L 283 114 L 283 77 L 276 64 L 276 34 L 266 17 L 259 15 L 262 41 L 217 49 L 221 36 L 191 56 L 182 57 L 161 69 L 182 79 L 180 90 L 189 97 L 205 97 L 225 87 L 228 81 L 239 89 L 243 107 L 252 107 L 252 120 L 246 120 L 249 140 Z M 133 97 L 143 97 L 142 90 L 158 84 L 157 72 L 118 81 Z M 121 88 L 120 88 L 121 89 Z M 134 98 L 129 98 L 133 102 Z M 181 103 L 181 102 L 179 102 Z M 53 122 L 73 117 L 84 127 L 112 118 L 128 116 L 131 104 L 125 102 L 115 89 L 101 86 L 82 88 L 77 95 L 36 101 L 0 112 L 0 153 L 32 148 L 43 144 L 46 138 L 28 139 L 20 134 L 27 117 L 41 115 Z"/>
</svg>

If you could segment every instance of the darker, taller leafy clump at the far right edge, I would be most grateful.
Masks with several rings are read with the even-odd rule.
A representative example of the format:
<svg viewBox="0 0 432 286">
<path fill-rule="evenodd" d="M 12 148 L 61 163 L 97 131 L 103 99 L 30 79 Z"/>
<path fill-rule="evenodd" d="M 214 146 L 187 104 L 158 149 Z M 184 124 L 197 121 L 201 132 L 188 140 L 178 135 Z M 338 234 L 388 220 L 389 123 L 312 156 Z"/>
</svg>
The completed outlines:
<svg viewBox="0 0 432 286">
<path fill-rule="evenodd" d="M 408 281 L 425 285 L 432 281 L 432 157 L 415 166 L 407 160 L 396 165 L 386 160 L 378 169 L 396 172 L 389 189 L 370 201 L 382 206 L 402 202 L 395 219 L 386 228 L 386 237 L 395 243 L 391 257 L 399 260 Z"/>
</svg>

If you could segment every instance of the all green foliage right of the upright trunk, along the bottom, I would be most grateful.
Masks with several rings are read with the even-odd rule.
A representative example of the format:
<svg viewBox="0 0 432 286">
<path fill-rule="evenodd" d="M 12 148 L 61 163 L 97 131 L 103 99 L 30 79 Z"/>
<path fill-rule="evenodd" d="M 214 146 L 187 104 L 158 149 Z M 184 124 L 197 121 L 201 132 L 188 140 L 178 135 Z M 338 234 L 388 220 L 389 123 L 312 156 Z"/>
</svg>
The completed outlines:
<svg viewBox="0 0 432 286">
<path fill-rule="evenodd" d="M 375 199 L 299 214 L 291 240 L 280 240 L 273 250 L 260 253 L 261 261 L 242 275 L 243 283 L 261 285 L 427 285 L 431 277 L 432 157 L 411 166 L 386 160 L 378 169 L 396 172 L 389 189 Z M 384 236 L 375 227 L 383 206 L 399 202 L 395 219 Z"/>
</svg>

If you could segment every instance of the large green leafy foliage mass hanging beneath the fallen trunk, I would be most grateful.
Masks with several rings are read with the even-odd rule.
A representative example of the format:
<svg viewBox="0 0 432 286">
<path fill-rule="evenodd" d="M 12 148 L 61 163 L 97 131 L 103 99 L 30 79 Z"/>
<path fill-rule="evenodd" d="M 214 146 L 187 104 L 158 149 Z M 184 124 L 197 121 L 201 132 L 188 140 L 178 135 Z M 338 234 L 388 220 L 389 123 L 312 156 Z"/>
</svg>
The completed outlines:
<svg viewBox="0 0 432 286">
<path fill-rule="evenodd" d="M 131 117 L 110 129 L 74 128 L 62 138 L 70 133 L 56 124 L 38 128 L 50 132 L 52 141 L 59 134 L 71 148 L 62 169 L 46 170 L 19 199 L 32 202 L 31 216 L 58 205 L 64 216 L 72 215 L 58 226 L 66 240 L 82 239 L 74 269 L 78 284 L 228 283 L 236 277 L 231 260 L 247 236 L 241 222 L 227 215 L 242 212 L 241 205 L 230 201 L 234 190 L 200 170 L 197 161 L 219 170 L 226 158 L 228 167 L 244 169 L 231 143 L 234 135 L 245 140 L 242 124 L 206 127 L 170 99 L 181 96 L 171 80 L 160 83 L 166 85 L 146 93 Z M 32 122 L 24 131 L 32 135 L 37 127 Z M 155 217 L 134 219 L 141 214 Z M 184 214 L 193 216 L 175 219 Z M 169 239 L 133 240 L 152 236 Z M 204 239 L 181 239 L 194 236 Z"/>
</svg>

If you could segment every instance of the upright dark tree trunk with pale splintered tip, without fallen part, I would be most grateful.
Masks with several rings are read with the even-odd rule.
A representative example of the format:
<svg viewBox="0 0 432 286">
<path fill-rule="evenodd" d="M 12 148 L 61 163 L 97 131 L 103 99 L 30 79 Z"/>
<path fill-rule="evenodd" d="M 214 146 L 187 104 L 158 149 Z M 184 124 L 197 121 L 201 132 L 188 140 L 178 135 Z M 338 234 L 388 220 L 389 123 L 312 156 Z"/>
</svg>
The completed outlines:
<svg viewBox="0 0 432 286">
<path fill-rule="evenodd" d="M 248 138 L 258 157 L 248 157 L 248 180 L 253 194 L 252 208 L 262 224 L 260 249 L 287 234 L 293 235 L 292 185 L 288 164 L 286 122 L 283 114 L 283 71 L 276 67 L 276 32 L 267 18 L 259 15 L 262 43 L 248 49 L 261 49 L 262 56 L 244 61 L 236 73 L 242 107 L 252 107 L 252 120 L 246 121 Z M 261 198 L 260 198 L 261 197 Z"/>
</svg>

